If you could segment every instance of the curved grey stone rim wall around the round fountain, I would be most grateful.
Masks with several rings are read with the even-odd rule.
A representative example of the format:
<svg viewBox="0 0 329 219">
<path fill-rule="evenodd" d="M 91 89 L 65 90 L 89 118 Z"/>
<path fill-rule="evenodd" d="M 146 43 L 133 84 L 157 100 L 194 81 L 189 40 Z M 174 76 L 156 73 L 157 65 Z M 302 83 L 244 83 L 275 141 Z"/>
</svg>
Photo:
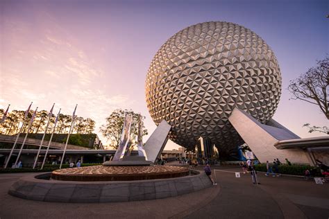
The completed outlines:
<svg viewBox="0 0 329 219">
<path fill-rule="evenodd" d="M 42 179 L 51 173 L 33 174 L 12 184 L 8 193 L 44 202 L 131 202 L 174 197 L 212 186 L 205 173 L 171 179 L 72 182 Z M 36 178 L 37 177 L 37 178 Z"/>
</svg>

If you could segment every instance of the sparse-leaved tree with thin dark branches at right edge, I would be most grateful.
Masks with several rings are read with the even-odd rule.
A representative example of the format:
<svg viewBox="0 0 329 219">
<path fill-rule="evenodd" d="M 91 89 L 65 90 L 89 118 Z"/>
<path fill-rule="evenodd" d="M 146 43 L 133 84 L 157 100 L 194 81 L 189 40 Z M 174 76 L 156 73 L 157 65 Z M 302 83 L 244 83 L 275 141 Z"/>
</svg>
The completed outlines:
<svg viewBox="0 0 329 219">
<path fill-rule="evenodd" d="M 308 69 L 299 78 L 291 80 L 288 90 L 293 100 L 304 100 L 307 103 L 318 105 L 321 112 L 329 119 L 329 57 L 317 61 L 317 67 Z"/>
</svg>

